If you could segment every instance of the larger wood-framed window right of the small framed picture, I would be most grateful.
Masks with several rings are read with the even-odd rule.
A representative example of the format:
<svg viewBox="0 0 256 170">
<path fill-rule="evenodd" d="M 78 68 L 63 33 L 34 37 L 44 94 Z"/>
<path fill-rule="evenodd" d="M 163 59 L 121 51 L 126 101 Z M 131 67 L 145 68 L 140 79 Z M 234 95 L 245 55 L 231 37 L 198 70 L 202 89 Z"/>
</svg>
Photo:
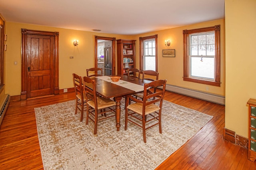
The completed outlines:
<svg viewBox="0 0 256 170">
<path fill-rule="evenodd" d="M 183 30 L 183 80 L 220 86 L 220 25 Z"/>
</svg>

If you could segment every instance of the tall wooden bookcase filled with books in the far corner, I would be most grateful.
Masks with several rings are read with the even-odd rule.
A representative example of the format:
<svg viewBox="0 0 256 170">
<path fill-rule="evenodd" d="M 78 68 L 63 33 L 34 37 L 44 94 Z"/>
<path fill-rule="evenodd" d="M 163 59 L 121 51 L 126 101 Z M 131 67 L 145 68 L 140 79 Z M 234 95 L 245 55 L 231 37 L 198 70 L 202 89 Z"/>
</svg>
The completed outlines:
<svg viewBox="0 0 256 170">
<path fill-rule="evenodd" d="M 117 74 L 128 74 L 128 68 L 135 68 L 135 41 L 117 40 Z"/>
</svg>

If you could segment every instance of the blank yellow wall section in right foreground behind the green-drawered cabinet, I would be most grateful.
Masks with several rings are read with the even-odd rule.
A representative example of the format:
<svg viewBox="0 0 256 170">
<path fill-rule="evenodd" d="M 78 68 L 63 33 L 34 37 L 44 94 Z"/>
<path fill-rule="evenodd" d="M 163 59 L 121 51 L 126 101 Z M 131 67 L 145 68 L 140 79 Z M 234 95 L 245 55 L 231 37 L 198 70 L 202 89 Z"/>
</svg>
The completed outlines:
<svg viewBox="0 0 256 170">
<path fill-rule="evenodd" d="M 225 126 L 248 137 L 249 98 L 256 98 L 256 0 L 225 0 Z"/>
</svg>

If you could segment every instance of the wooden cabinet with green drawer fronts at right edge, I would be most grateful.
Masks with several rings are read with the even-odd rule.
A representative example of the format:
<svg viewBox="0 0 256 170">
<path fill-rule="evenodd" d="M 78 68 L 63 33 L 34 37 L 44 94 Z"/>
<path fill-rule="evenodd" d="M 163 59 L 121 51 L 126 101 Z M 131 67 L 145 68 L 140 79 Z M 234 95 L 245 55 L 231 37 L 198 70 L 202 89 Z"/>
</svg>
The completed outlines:
<svg viewBox="0 0 256 170">
<path fill-rule="evenodd" d="M 256 99 L 249 99 L 248 159 L 256 159 Z"/>
</svg>

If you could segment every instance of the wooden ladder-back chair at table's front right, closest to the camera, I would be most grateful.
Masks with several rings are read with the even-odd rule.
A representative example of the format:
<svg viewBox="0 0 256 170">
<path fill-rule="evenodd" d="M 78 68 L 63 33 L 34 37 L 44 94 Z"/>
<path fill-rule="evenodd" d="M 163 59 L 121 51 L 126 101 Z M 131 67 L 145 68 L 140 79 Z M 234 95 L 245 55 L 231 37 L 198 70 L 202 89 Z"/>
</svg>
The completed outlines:
<svg viewBox="0 0 256 170">
<path fill-rule="evenodd" d="M 148 88 L 157 88 L 162 87 L 156 92 L 148 90 Z M 161 124 L 161 113 L 162 113 L 162 104 L 164 100 L 166 80 L 155 80 L 150 83 L 144 84 L 144 96 L 142 100 L 138 100 L 132 95 L 127 95 L 125 100 L 125 126 L 124 130 L 127 130 L 128 121 L 134 123 L 138 127 L 142 128 L 143 141 L 146 143 L 146 130 L 158 125 L 159 133 L 162 133 L 162 124 Z M 154 98 L 153 100 L 148 100 L 149 98 Z M 135 103 L 129 104 L 129 100 L 134 101 Z M 150 119 L 148 119 L 150 115 Z M 146 123 L 150 123 L 146 127 Z"/>
</svg>

